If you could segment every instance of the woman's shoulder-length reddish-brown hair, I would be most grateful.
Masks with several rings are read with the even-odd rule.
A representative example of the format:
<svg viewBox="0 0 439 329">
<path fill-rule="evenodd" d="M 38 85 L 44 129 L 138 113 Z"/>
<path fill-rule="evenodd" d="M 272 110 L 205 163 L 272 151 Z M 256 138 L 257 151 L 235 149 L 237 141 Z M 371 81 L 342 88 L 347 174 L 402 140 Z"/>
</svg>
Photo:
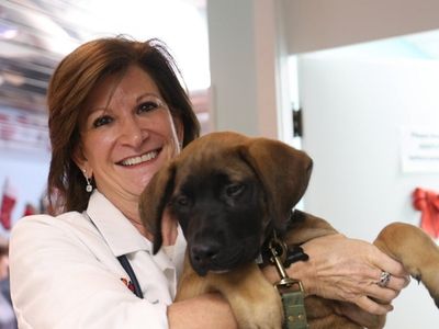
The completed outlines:
<svg viewBox="0 0 439 329">
<path fill-rule="evenodd" d="M 80 143 L 80 120 L 92 90 L 111 75 L 123 75 L 138 65 L 156 82 L 175 118 L 183 125 L 183 147 L 200 134 L 176 61 L 158 39 L 136 42 L 123 36 L 99 38 L 79 46 L 65 57 L 52 76 L 48 91 L 48 128 L 52 160 L 48 173 L 48 211 L 52 214 L 86 209 L 90 194 L 74 162 Z"/>
</svg>

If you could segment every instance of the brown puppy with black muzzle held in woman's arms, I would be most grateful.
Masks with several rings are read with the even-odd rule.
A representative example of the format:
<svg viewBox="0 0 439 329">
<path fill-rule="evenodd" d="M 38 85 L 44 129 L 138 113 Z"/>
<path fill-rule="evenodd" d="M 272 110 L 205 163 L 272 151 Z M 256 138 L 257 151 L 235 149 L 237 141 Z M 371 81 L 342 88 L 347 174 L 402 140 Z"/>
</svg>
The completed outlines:
<svg viewBox="0 0 439 329">
<path fill-rule="evenodd" d="M 320 218 L 292 216 L 311 171 L 305 152 L 235 133 L 201 137 L 158 171 L 140 196 L 140 215 L 155 234 L 155 252 L 162 242 L 165 211 L 183 229 L 188 250 L 177 299 L 219 292 L 240 328 L 281 328 L 279 294 L 255 259 L 272 231 L 291 245 L 336 232 Z M 421 280 L 439 304 L 439 249 L 426 234 L 396 223 L 375 243 Z M 305 305 L 311 328 L 361 328 L 336 313 L 338 302 L 312 296 Z M 368 319 L 370 328 L 384 321 L 382 316 Z"/>
</svg>

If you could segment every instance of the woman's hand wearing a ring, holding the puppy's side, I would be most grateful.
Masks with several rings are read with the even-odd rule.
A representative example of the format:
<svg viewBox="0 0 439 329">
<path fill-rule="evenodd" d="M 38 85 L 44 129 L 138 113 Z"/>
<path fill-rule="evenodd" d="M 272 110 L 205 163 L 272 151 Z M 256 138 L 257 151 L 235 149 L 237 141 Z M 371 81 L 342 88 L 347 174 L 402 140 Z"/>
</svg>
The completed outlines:
<svg viewBox="0 0 439 329">
<path fill-rule="evenodd" d="M 293 264 L 288 273 L 302 281 L 307 295 L 350 302 L 382 315 L 393 309 L 391 302 L 409 282 L 401 263 L 362 240 L 331 235 L 315 238 L 303 248 L 309 260 Z M 383 271 L 391 274 L 385 287 L 378 285 Z"/>
</svg>

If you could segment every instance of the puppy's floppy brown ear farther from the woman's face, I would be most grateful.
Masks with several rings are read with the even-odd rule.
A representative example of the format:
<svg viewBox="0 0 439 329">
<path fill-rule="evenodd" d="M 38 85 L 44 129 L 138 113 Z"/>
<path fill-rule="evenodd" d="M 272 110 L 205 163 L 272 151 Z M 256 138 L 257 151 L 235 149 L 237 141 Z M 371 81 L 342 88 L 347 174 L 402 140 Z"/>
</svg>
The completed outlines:
<svg viewBox="0 0 439 329">
<path fill-rule="evenodd" d="M 268 138 L 250 139 L 240 152 L 262 183 L 274 227 L 284 231 L 292 208 L 308 185 L 312 159 L 301 150 Z"/>
</svg>

